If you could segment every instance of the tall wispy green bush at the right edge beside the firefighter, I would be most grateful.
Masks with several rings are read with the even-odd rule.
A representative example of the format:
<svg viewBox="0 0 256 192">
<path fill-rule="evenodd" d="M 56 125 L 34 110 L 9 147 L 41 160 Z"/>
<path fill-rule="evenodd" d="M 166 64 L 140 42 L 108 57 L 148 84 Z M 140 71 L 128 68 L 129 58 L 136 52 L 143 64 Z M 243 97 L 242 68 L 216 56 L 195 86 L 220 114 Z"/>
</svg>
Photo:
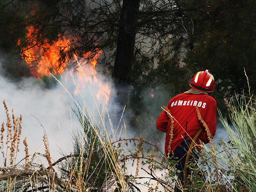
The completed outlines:
<svg viewBox="0 0 256 192">
<path fill-rule="evenodd" d="M 236 97 L 236 100 L 239 100 Z M 255 100 L 241 96 L 240 102 L 225 102 L 229 109 L 231 125 L 220 113 L 220 120 L 225 127 L 230 141 L 220 140 L 221 152 L 210 151 L 205 147 L 207 155 L 217 161 L 210 161 L 221 172 L 232 175 L 233 189 L 256 192 L 256 127 Z M 206 157 L 207 158 L 207 157 Z M 209 158 L 209 156 L 208 156 Z M 220 162 L 220 163 L 218 163 Z"/>
</svg>

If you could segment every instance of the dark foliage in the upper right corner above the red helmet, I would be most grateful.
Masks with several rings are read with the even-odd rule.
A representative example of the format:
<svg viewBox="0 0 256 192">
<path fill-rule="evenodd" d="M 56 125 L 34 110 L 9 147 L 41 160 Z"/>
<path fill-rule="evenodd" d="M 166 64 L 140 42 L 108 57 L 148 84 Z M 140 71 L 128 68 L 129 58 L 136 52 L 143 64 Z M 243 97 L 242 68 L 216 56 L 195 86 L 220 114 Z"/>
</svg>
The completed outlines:
<svg viewBox="0 0 256 192">
<path fill-rule="evenodd" d="M 254 92 L 255 1 L 183 1 L 183 8 L 188 10 L 189 26 L 194 30 L 195 49 L 186 52 L 184 58 L 187 67 L 193 73 L 209 69 L 220 99 L 248 93 L 245 68 Z"/>
</svg>

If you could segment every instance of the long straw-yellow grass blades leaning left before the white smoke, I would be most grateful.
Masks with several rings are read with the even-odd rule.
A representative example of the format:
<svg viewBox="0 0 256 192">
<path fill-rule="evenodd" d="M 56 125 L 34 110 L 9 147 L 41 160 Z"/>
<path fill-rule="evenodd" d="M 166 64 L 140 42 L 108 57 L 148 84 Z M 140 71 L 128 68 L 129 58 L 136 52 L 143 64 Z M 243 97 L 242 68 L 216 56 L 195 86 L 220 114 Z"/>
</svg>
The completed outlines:
<svg viewBox="0 0 256 192">
<path fill-rule="evenodd" d="M 80 63 L 77 62 L 78 65 L 80 66 Z M 91 92 L 91 95 L 92 95 L 92 98 L 94 100 L 94 103 L 95 103 L 95 108 L 97 110 L 97 113 L 99 114 L 99 117 L 100 117 L 100 120 L 96 120 L 95 119 L 95 116 L 93 115 L 92 111 L 90 110 L 90 108 L 87 106 L 87 103 L 86 103 L 86 99 L 84 98 L 84 96 L 81 94 L 80 90 L 79 90 L 79 87 L 77 86 L 76 84 L 76 81 L 74 79 L 74 77 L 71 75 L 72 77 L 72 80 L 73 80 L 73 83 L 74 85 L 76 86 L 78 92 L 80 93 L 80 96 L 83 100 L 83 108 L 80 107 L 80 105 L 77 103 L 77 101 L 72 97 L 72 94 L 70 94 L 68 92 L 68 90 L 61 84 L 61 82 L 56 79 L 54 76 L 54 78 L 64 87 L 64 89 L 68 92 L 68 94 L 72 97 L 72 99 L 74 100 L 74 102 L 76 103 L 76 106 L 79 107 L 80 111 L 83 113 L 83 118 L 84 119 L 87 119 L 88 122 L 90 123 L 90 127 L 91 129 L 93 130 L 93 132 L 96 134 L 97 136 L 97 139 L 99 140 L 100 142 L 100 145 L 102 147 L 102 152 L 104 153 L 104 156 L 105 156 L 105 161 L 106 163 L 109 165 L 109 167 L 111 168 L 110 172 L 113 176 L 113 178 L 115 178 L 115 186 L 118 186 L 118 188 L 122 189 L 122 191 L 128 191 L 127 189 L 127 185 L 126 185 L 126 181 L 125 181 L 125 173 L 123 172 L 123 169 L 122 169 L 122 162 L 121 162 L 121 159 L 120 157 L 118 156 L 119 152 L 118 152 L 118 146 L 114 146 L 113 145 L 113 142 L 114 142 L 114 138 L 116 137 L 116 132 L 114 131 L 114 128 L 113 128 L 113 125 L 111 123 L 111 120 L 108 116 L 108 120 L 110 122 L 110 129 L 112 130 L 112 133 L 113 133 L 113 137 L 110 137 L 109 133 L 108 133 L 108 130 L 109 128 L 106 127 L 105 125 L 105 122 L 104 122 L 104 115 L 105 113 L 108 115 L 108 111 L 107 109 L 105 108 L 105 106 L 103 105 L 102 106 L 102 109 L 99 110 L 97 104 L 96 104 L 96 101 L 95 101 L 95 98 L 94 98 L 94 95 L 92 93 L 92 90 L 88 84 L 88 81 L 87 81 L 87 78 L 86 78 L 86 75 L 84 74 L 82 68 L 81 68 L 81 71 L 82 71 L 82 75 L 84 76 L 84 80 L 85 80 L 85 84 L 87 84 L 90 92 Z M 94 122 L 98 122 L 97 124 L 94 124 Z M 120 125 L 120 130 L 124 130 L 126 129 L 125 127 L 125 123 L 123 122 L 123 119 L 121 117 L 120 121 L 119 121 L 119 125 Z M 122 125 L 121 125 L 122 124 Z M 99 129 L 99 125 L 102 126 L 102 129 Z M 82 127 L 84 129 L 84 127 Z M 84 133 L 85 134 L 85 133 Z M 104 136 L 104 137 L 102 137 Z M 84 148 L 84 138 L 85 136 L 83 135 L 82 137 L 82 140 L 81 140 L 81 149 Z M 92 140 L 92 145 L 96 145 L 93 140 Z M 80 170 L 79 172 L 83 172 L 83 170 L 86 170 L 86 169 L 82 169 L 83 166 L 89 166 L 89 163 L 92 159 L 92 156 L 93 156 L 93 151 L 90 151 L 89 152 L 89 158 L 88 158 L 88 164 L 86 165 L 83 165 L 82 164 L 82 158 L 83 158 L 83 154 L 81 154 L 80 158 L 81 158 L 81 161 L 80 161 L 80 165 L 78 167 L 80 167 Z M 86 175 L 86 174 L 85 174 Z M 76 177 L 76 180 L 78 183 L 78 185 L 80 186 L 76 186 L 76 189 L 77 190 L 82 190 L 83 189 L 83 183 L 84 183 L 84 174 L 78 174 L 78 177 Z M 86 183 L 85 183 L 86 184 Z M 105 183 L 107 185 L 107 183 Z"/>
</svg>

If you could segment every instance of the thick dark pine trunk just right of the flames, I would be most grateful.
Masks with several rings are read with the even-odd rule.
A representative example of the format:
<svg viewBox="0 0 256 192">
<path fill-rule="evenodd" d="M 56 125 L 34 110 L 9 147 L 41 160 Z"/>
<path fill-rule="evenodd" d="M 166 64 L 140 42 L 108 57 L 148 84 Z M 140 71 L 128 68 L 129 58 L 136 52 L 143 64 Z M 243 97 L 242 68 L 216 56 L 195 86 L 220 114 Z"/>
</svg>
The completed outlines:
<svg viewBox="0 0 256 192">
<path fill-rule="evenodd" d="M 124 0 L 121 9 L 121 23 L 116 47 L 116 59 L 112 73 L 114 84 L 112 85 L 110 93 L 110 101 L 112 101 L 112 104 L 119 104 L 119 108 L 121 109 L 126 104 L 130 85 L 136 36 L 135 25 L 138 20 L 136 13 L 139 10 L 139 6 L 140 0 Z M 116 92 L 114 92 L 114 90 L 116 90 Z"/>
</svg>

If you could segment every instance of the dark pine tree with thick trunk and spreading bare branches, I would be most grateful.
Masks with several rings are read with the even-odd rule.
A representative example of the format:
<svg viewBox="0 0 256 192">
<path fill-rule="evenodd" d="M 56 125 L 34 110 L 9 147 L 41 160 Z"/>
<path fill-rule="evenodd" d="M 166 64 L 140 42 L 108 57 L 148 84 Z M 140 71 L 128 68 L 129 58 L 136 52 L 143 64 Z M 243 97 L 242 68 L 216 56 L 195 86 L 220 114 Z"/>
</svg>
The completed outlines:
<svg viewBox="0 0 256 192">
<path fill-rule="evenodd" d="M 182 48 L 189 46 L 184 27 L 184 19 L 189 18 L 175 1 L 62 0 L 58 7 L 63 34 L 71 40 L 60 61 L 71 59 L 73 54 L 89 59 L 100 53 L 98 63 L 111 69 L 112 87 L 117 90 L 117 100 L 112 99 L 122 107 L 135 59 L 144 58 L 154 65 L 155 59 L 172 55 L 178 66 Z M 77 64 L 73 62 L 71 67 Z"/>
</svg>

